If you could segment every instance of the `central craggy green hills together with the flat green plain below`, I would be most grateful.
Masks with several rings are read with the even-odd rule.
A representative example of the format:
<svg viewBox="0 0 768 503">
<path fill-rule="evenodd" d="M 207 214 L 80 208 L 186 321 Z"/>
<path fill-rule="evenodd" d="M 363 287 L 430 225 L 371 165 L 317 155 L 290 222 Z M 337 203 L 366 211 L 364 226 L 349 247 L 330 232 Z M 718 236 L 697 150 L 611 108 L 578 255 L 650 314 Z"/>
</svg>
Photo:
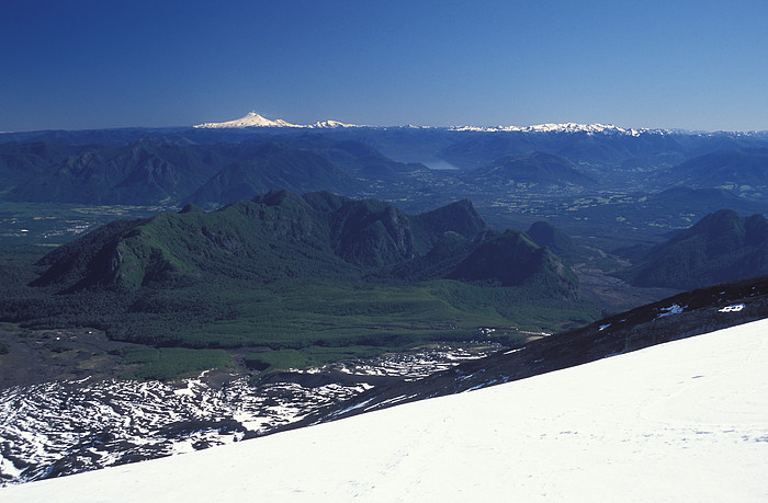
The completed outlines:
<svg viewBox="0 0 768 503">
<path fill-rule="evenodd" d="M 598 316 L 556 256 L 522 232 L 492 230 L 468 202 L 410 216 L 272 192 L 217 212 L 117 220 L 44 256 L 4 250 L 2 320 L 94 328 L 165 352 L 142 353 L 146 362 L 121 353 L 146 364 L 136 377 L 194 370 L 212 357 L 194 352 L 211 350 L 261 368 L 296 361 L 269 352 L 303 350 L 316 363 L 432 342 L 515 345 Z"/>
</svg>

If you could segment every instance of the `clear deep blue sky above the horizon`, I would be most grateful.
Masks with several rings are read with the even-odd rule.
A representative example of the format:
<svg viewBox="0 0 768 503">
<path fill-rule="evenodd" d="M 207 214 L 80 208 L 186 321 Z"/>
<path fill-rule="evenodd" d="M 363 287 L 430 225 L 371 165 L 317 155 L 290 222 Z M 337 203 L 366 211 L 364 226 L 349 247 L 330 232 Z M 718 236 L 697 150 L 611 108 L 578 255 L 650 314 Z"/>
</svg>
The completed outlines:
<svg viewBox="0 0 768 503">
<path fill-rule="evenodd" d="M 0 0 L 0 130 L 768 129 L 768 2 Z"/>
</svg>

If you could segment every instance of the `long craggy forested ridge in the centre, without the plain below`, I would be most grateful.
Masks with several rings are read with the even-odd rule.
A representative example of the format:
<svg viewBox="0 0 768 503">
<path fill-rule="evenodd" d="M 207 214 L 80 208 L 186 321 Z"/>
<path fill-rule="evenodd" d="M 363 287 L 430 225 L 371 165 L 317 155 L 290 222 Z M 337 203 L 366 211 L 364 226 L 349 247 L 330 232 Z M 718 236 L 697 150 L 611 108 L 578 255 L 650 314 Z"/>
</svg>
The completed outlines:
<svg viewBox="0 0 768 503">
<path fill-rule="evenodd" d="M 448 248 L 447 248 L 448 247 Z M 450 253 L 445 253 L 450 250 Z M 492 230 L 468 201 L 410 216 L 374 199 L 273 191 L 206 213 L 192 205 L 117 221 L 46 255 L 35 286 L 136 290 L 206 275 L 530 283 L 574 294 L 577 281 L 522 232 Z"/>
</svg>

